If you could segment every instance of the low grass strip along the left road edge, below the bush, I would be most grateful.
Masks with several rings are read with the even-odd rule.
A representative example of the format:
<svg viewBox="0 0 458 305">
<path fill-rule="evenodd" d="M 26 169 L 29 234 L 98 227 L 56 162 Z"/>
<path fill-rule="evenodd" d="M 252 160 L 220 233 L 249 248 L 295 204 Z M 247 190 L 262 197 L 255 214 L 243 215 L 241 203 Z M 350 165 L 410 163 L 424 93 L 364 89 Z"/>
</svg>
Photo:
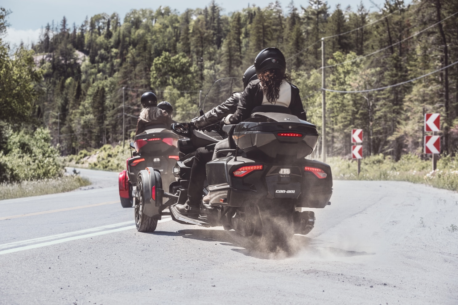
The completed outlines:
<svg viewBox="0 0 458 305">
<path fill-rule="evenodd" d="M 0 183 L 0 200 L 69 192 L 91 184 L 80 176 L 63 176 L 55 179 Z"/>
</svg>

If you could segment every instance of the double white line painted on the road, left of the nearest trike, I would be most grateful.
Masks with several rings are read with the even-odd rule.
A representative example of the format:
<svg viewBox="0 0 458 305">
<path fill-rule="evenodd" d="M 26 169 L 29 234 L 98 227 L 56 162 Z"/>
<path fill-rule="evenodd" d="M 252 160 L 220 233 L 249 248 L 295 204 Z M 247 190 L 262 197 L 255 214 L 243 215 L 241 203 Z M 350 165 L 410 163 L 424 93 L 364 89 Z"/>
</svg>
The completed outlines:
<svg viewBox="0 0 458 305">
<path fill-rule="evenodd" d="M 170 217 L 170 218 L 164 218 L 162 220 L 158 220 L 158 223 L 169 221 L 169 220 L 172 220 L 172 218 Z M 131 224 L 131 223 L 133 223 L 133 221 L 127 221 L 125 223 L 120 223 L 120 224 Z M 103 227 L 107 228 L 109 226 L 111 226 L 111 227 L 119 226 L 120 224 L 108 225 L 108 226 L 103 226 Z M 79 233 L 81 233 L 81 232 L 89 232 L 89 231 L 94 230 L 94 229 L 98 229 L 99 230 L 99 228 L 103 228 L 103 227 L 97 227 L 97 228 L 87 229 L 87 230 L 80 230 L 80 231 L 64 233 L 64 234 L 58 234 L 58 235 L 61 235 L 60 237 L 62 237 L 62 235 L 63 236 L 74 235 L 74 234 L 77 234 L 77 232 L 79 232 Z M 42 243 L 38 243 L 38 244 L 34 244 L 34 245 L 29 245 L 29 246 L 16 247 L 16 248 L 0 251 L 0 255 L 7 254 L 7 253 L 12 253 L 12 252 L 29 250 L 29 249 L 40 248 L 40 247 L 44 247 L 44 246 L 56 245 L 56 244 L 60 244 L 60 243 L 67 242 L 67 241 L 75 241 L 77 239 L 93 237 L 93 236 L 98 236 L 98 235 L 104 235 L 104 234 L 109 234 L 109 233 L 114 233 L 114 232 L 120 232 L 120 231 L 130 230 L 130 229 L 134 229 L 134 228 L 135 228 L 135 225 L 129 225 L 129 226 L 126 226 L 126 227 L 117 228 L 117 229 L 113 229 L 113 230 L 105 230 L 105 231 L 94 232 L 94 233 L 85 234 L 85 235 L 77 235 L 77 236 L 72 236 L 72 237 L 67 237 L 67 238 L 61 238 L 61 239 L 58 239 L 58 240 L 55 240 L 55 241 L 46 241 L 46 242 L 42 242 Z M 46 240 L 46 239 L 54 239 L 54 238 L 56 238 L 56 237 L 53 237 L 53 236 L 57 236 L 57 235 L 46 236 L 46 237 L 42 237 L 41 239 L 40 238 L 36 238 L 34 240 L 37 241 L 37 240 Z M 50 238 L 50 237 L 53 237 L 53 238 Z M 33 240 L 28 240 L 27 243 L 30 243 L 32 241 Z M 24 243 L 24 242 L 26 242 L 26 241 L 22 241 L 22 243 Z M 21 242 L 18 241 L 16 243 L 17 243 L 17 245 L 19 245 Z M 0 248 L 11 247 L 12 246 L 11 244 L 15 244 L 15 243 L 3 244 L 3 245 L 0 245 Z M 9 245 L 9 246 L 6 246 L 6 245 Z"/>
</svg>

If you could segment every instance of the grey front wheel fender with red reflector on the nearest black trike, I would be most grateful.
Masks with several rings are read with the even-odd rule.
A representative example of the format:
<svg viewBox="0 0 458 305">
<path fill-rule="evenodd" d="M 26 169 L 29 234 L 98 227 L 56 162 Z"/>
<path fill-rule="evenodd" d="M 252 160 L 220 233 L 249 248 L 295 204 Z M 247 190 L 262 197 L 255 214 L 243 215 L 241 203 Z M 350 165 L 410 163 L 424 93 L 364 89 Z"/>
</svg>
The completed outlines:
<svg viewBox="0 0 458 305">
<path fill-rule="evenodd" d="M 154 219 L 161 219 L 161 205 L 164 190 L 162 189 L 162 179 L 160 171 L 147 167 L 138 173 L 138 178 L 143 182 L 143 213 Z M 138 180 L 138 179 L 137 179 Z"/>
</svg>

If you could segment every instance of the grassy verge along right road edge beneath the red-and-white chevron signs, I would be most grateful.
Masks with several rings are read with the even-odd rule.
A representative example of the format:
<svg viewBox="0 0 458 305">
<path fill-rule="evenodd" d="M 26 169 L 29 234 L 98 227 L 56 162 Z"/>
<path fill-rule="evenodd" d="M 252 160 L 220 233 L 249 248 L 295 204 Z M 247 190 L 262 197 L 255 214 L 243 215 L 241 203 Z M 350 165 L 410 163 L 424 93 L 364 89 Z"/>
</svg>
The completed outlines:
<svg viewBox="0 0 458 305">
<path fill-rule="evenodd" d="M 335 180 L 408 181 L 458 191 L 458 158 L 450 156 L 437 161 L 437 169 L 432 171 L 431 161 L 421 160 L 416 155 L 403 155 L 398 162 L 389 156 L 374 155 L 361 161 L 360 176 L 356 161 L 333 157 L 327 163 Z"/>
</svg>

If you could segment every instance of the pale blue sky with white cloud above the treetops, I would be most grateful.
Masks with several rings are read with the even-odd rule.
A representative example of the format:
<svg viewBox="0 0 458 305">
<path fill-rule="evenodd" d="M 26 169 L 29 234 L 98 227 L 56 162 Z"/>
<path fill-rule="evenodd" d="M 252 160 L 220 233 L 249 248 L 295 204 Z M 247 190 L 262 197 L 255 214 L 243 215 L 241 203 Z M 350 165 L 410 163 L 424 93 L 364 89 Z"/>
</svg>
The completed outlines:
<svg viewBox="0 0 458 305">
<path fill-rule="evenodd" d="M 216 3 L 224 8 L 223 14 L 232 11 L 240 10 L 249 4 L 256 4 L 261 7 L 267 6 L 274 0 L 217 0 Z M 280 0 L 282 7 L 285 9 L 290 0 Z M 377 11 L 375 5 L 371 0 L 362 0 L 363 4 L 371 11 Z M 382 5 L 384 0 L 372 0 L 372 2 Z M 192 3 L 192 5 L 191 5 Z M 5 41 L 9 42 L 12 46 L 18 45 L 23 41 L 29 45 L 31 42 L 37 42 L 40 35 L 41 27 L 46 26 L 53 20 L 55 23 L 60 23 L 62 17 L 67 18 L 68 24 L 72 25 L 73 22 L 77 26 L 81 25 L 86 16 L 93 16 L 99 13 L 107 13 L 111 15 L 116 12 L 120 15 L 121 20 L 125 14 L 131 9 L 151 8 L 158 9 L 160 5 L 168 5 L 172 9 L 179 12 L 185 11 L 187 8 L 205 7 L 210 3 L 210 0 L 78 0 L 78 1 L 65 1 L 65 0 L 3 0 L 0 6 L 5 7 L 12 11 L 8 16 L 10 27 L 4 37 Z M 306 6 L 308 1 L 294 1 L 296 6 Z M 342 8 L 351 5 L 353 8 L 360 3 L 360 0 L 328 0 L 327 4 L 335 9 L 337 4 L 341 4 Z"/>
</svg>

